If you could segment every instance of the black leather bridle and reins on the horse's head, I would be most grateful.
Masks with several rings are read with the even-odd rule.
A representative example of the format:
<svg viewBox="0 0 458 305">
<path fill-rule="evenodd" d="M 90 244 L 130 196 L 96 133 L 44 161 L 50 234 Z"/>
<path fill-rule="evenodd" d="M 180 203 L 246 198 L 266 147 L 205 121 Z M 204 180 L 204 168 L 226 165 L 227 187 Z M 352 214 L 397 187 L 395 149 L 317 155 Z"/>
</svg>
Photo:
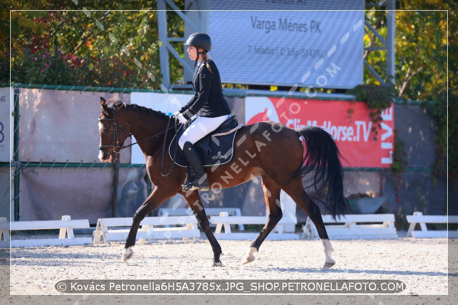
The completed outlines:
<svg viewBox="0 0 458 305">
<path fill-rule="evenodd" d="M 133 145 L 135 145 L 137 143 L 149 140 L 149 139 L 154 138 L 154 137 L 158 137 L 159 135 L 165 133 L 164 142 L 163 142 L 163 145 L 162 145 L 161 175 L 163 177 L 168 176 L 170 174 L 171 170 L 174 167 L 174 162 L 172 161 L 171 166 L 170 166 L 170 170 L 168 171 L 168 173 L 164 174 L 163 173 L 163 168 L 164 168 L 165 139 L 167 138 L 167 132 L 170 129 L 175 128 L 175 134 L 177 133 L 177 122 L 175 121 L 175 124 L 173 126 L 168 127 L 169 124 L 170 124 L 170 119 L 169 119 L 168 122 L 167 122 L 167 127 L 165 128 L 164 131 L 161 131 L 161 132 L 159 132 L 159 133 L 157 133 L 155 135 L 152 135 L 152 136 L 150 136 L 148 138 L 145 138 L 145 139 L 142 139 L 140 141 L 136 141 L 135 143 L 131 143 L 129 145 L 119 146 L 119 133 L 118 133 L 118 128 L 117 127 L 121 128 L 122 130 L 127 132 L 128 137 L 130 137 L 131 139 L 132 139 L 132 133 L 130 131 L 128 131 L 127 129 L 125 129 L 121 124 L 119 124 L 116 121 L 115 110 L 113 110 L 112 108 L 108 108 L 108 109 L 111 110 L 111 114 L 112 114 L 113 117 L 99 117 L 99 122 L 100 121 L 113 121 L 113 131 L 114 131 L 113 132 L 113 142 L 112 142 L 112 144 L 108 144 L 108 145 L 100 145 L 99 146 L 99 150 L 102 151 L 102 153 L 107 155 L 107 156 L 117 156 L 121 152 L 121 150 L 123 150 L 124 148 L 128 148 L 128 147 L 133 146 Z M 178 141 L 177 141 L 176 145 L 178 146 Z M 106 151 L 105 149 L 103 149 L 103 148 L 108 148 L 108 147 L 113 147 L 113 151 L 111 151 L 111 153 L 109 151 Z M 117 148 L 118 148 L 118 150 L 116 150 Z M 177 147 L 175 147 L 175 153 L 174 153 L 173 160 L 175 160 L 176 154 L 177 154 Z"/>
</svg>

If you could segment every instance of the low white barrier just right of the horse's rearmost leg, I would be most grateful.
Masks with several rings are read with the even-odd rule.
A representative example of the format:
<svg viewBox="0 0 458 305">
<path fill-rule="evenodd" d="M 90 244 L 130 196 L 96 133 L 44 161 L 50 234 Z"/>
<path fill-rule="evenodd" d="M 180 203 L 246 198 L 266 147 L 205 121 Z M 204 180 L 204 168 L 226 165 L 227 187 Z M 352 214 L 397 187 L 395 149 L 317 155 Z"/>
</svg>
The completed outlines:
<svg viewBox="0 0 458 305">
<path fill-rule="evenodd" d="M 323 222 L 330 239 L 397 238 L 394 214 L 351 214 L 332 219 L 324 215 Z M 304 237 L 319 238 L 317 228 L 308 218 L 302 227 Z"/>
</svg>

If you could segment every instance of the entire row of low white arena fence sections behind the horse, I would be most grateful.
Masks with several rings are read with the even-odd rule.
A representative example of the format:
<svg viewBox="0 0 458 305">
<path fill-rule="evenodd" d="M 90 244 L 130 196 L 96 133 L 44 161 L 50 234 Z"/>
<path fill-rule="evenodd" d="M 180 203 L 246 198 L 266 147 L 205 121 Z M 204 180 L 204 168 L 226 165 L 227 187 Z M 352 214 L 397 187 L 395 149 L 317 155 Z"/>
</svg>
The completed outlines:
<svg viewBox="0 0 458 305">
<path fill-rule="evenodd" d="M 165 211 L 166 212 L 166 211 Z M 236 214 L 236 213 L 234 213 Z M 254 239 L 258 232 L 232 232 L 231 225 L 257 224 L 264 225 L 267 217 L 254 216 L 230 216 L 227 211 L 220 211 L 219 216 L 210 216 L 211 223 L 216 225 L 215 236 L 217 239 Z M 423 215 L 414 212 L 407 216 L 410 223 L 406 237 L 413 238 L 458 238 L 458 230 L 434 230 L 428 229 L 430 224 L 456 224 L 458 216 L 446 215 Z M 330 215 L 323 216 L 326 230 L 330 239 L 378 239 L 398 238 L 394 227 L 393 214 L 358 214 L 347 215 L 333 220 Z M 61 220 L 46 221 L 16 221 L 8 222 L 0 217 L 0 248 L 17 247 L 45 247 L 45 246 L 75 246 L 90 245 L 100 242 L 124 241 L 127 238 L 132 218 L 101 218 L 93 231 L 94 238 L 75 237 L 73 229 L 90 228 L 87 219 L 72 220 L 69 215 L 62 216 Z M 283 217 L 275 230 L 269 234 L 269 239 L 318 239 L 317 229 L 310 220 L 302 226 L 302 236 L 299 233 L 285 233 L 284 225 L 297 224 L 297 220 Z M 419 225 L 420 230 L 415 230 Z M 201 237 L 201 231 L 197 226 L 194 216 L 168 216 L 146 217 L 140 223 L 137 240 L 145 241 L 152 239 L 182 238 L 197 240 Z M 224 233 L 222 229 L 224 228 Z M 11 231 L 35 231 L 35 230 L 59 229 L 56 238 L 40 238 L 40 234 L 27 235 L 26 239 L 12 239 Z M 22 235 L 18 235 L 22 236 Z M 36 237 L 36 238 L 35 238 Z"/>
</svg>

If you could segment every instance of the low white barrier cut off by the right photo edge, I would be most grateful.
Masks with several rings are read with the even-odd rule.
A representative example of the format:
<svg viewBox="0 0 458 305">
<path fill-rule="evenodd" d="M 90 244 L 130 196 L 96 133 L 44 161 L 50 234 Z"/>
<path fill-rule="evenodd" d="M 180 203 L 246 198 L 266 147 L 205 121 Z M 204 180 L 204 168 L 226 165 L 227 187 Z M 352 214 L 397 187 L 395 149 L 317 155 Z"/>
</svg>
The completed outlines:
<svg viewBox="0 0 458 305">
<path fill-rule="evenodd" d="M 458 231 L 447 230 L 428 230 L 426 224 L 446 224 L 458 223 L 458 216 L 447 215 L 423 215 L 422 212 L 414 212 L 413 215 L 407 215 L 407 222 L 410 223 L 406 237 L 448 237 L 458 238 Z M 415 226 L 419 224 L 421 230 L 415 230 Z"/>
</svg>

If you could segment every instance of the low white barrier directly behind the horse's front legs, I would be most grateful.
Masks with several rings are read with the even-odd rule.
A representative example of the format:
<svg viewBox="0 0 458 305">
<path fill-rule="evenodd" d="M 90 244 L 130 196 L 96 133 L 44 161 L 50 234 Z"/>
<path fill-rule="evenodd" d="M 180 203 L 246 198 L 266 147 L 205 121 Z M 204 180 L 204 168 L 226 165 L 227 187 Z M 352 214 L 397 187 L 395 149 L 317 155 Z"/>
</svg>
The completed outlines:
<svg viewBox="0 0 458 305">
<path fill-rule="evenodd" d="M 126 240 L 130 229 L 120 227 L 130 227 L 132 218 L 99 218 L 93 233 L 93 243 L 100 243 L 101 238 L 104 242 L 115 240 Z M 165 226 L 181 225 L 179 227 L 168 228 Z M 111 227 L 111 229 L 109 229 Z M 171 239 L 171 238 L 194 238 L 198 239 L 201 232 L 197 228 L 197 220 L 194 216 L 162 216 L 145 217 L 140 222 L 136 239 Z"/>
</svg>

